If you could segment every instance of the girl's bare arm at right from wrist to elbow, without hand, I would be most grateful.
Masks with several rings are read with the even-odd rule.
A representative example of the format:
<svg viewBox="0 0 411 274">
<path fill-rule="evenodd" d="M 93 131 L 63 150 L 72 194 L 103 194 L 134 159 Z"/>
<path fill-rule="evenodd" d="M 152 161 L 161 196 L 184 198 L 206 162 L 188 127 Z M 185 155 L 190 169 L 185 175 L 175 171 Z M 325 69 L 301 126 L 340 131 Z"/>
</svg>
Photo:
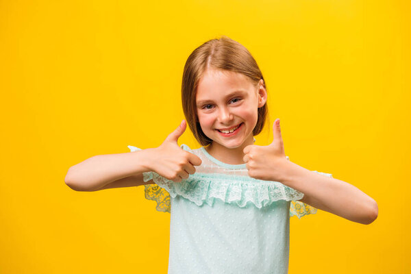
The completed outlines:
<svg viewBox="0 0 411 274">
<path fill-rule="evenodd" d="M 377 202 L 355 186 L 290 161 L 283 164 L 282 184 L 303 192 L 303 203 L 364 225 L 377 219 Z"/>
</svg>

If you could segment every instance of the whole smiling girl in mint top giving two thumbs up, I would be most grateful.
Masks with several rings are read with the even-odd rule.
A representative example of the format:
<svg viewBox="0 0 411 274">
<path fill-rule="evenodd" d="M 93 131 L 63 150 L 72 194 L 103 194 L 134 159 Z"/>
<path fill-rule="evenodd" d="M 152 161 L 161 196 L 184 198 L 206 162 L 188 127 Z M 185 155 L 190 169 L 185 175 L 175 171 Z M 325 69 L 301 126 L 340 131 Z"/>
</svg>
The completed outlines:
<svg viewBox="0 0 411 274">
<path fill-rule="evenodd" d="M 279 127 L 253 145 L 267 116 L 266 84 L 245 47 L 227 38 L 195 49 L 184 66 L 186 121 L 156 148 L 97 155 L 69 169 L 74 190 L 145 184 L 171 212 L 169 273 L 288 273 L 290 216 L 325 210 L 369 224 L 377 203 L 329 173 L 288 160 Z M 201 144 L 179 147 L 186 124 Z"/>
</svg>

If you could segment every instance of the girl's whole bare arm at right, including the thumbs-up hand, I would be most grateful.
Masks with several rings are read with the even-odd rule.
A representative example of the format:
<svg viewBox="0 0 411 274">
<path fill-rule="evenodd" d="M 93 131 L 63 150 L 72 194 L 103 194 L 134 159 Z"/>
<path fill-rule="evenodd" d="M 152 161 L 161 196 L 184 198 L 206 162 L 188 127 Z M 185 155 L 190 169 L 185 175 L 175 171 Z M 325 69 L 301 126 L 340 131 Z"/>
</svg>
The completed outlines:
<svg viewBox="0 0 411 274">
<path fill-rule="evenodd" d="M 378 216 L 377 203 L 355 186 L 314 173 L 286 160 L 279 119 L 273 124 L 273 142 L 243 149 L 250 177 L 281 182 L 304 193 L 303 201 L 314 208 L 368 225 Z"/>
</svg>

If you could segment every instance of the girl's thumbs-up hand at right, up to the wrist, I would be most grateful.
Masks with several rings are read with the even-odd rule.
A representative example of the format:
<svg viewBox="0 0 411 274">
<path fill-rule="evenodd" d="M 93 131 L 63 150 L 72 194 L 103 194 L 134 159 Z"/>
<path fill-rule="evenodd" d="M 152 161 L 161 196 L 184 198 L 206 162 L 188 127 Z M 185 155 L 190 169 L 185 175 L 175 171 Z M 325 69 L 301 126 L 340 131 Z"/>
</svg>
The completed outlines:
<svg viewBox="0 0 411 274">
<path fill-rule="evenodd" d="M 242 160 L 247 163 L 250 177 L 274 182 L 282 182 L 284 179 L 288 160 L 284 152 L 279 119 L 274 121 L 273 135 L 274 140 L 270 145 L 248 145 L 242 151 L 245 153 Z"/>
</svg>

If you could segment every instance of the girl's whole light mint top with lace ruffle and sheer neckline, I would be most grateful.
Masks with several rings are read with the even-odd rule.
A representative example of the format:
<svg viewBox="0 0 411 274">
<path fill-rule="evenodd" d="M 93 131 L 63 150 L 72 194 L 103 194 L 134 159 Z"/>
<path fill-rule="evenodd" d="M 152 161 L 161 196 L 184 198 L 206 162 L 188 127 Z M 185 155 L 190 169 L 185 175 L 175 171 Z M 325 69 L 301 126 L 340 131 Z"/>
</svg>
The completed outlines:
<svg viewBox="0 0 411 274">
<path fill-rule="evenodd" d="M 303 193 L 251 178 L 245 164 L 225 164 L 204 147 L 181 147 L 202 160 L 188 179 L 144 173 L 171 198 L 168 273 L 288 273 L 290 216 L 308 207 Z"/>
</svg>

